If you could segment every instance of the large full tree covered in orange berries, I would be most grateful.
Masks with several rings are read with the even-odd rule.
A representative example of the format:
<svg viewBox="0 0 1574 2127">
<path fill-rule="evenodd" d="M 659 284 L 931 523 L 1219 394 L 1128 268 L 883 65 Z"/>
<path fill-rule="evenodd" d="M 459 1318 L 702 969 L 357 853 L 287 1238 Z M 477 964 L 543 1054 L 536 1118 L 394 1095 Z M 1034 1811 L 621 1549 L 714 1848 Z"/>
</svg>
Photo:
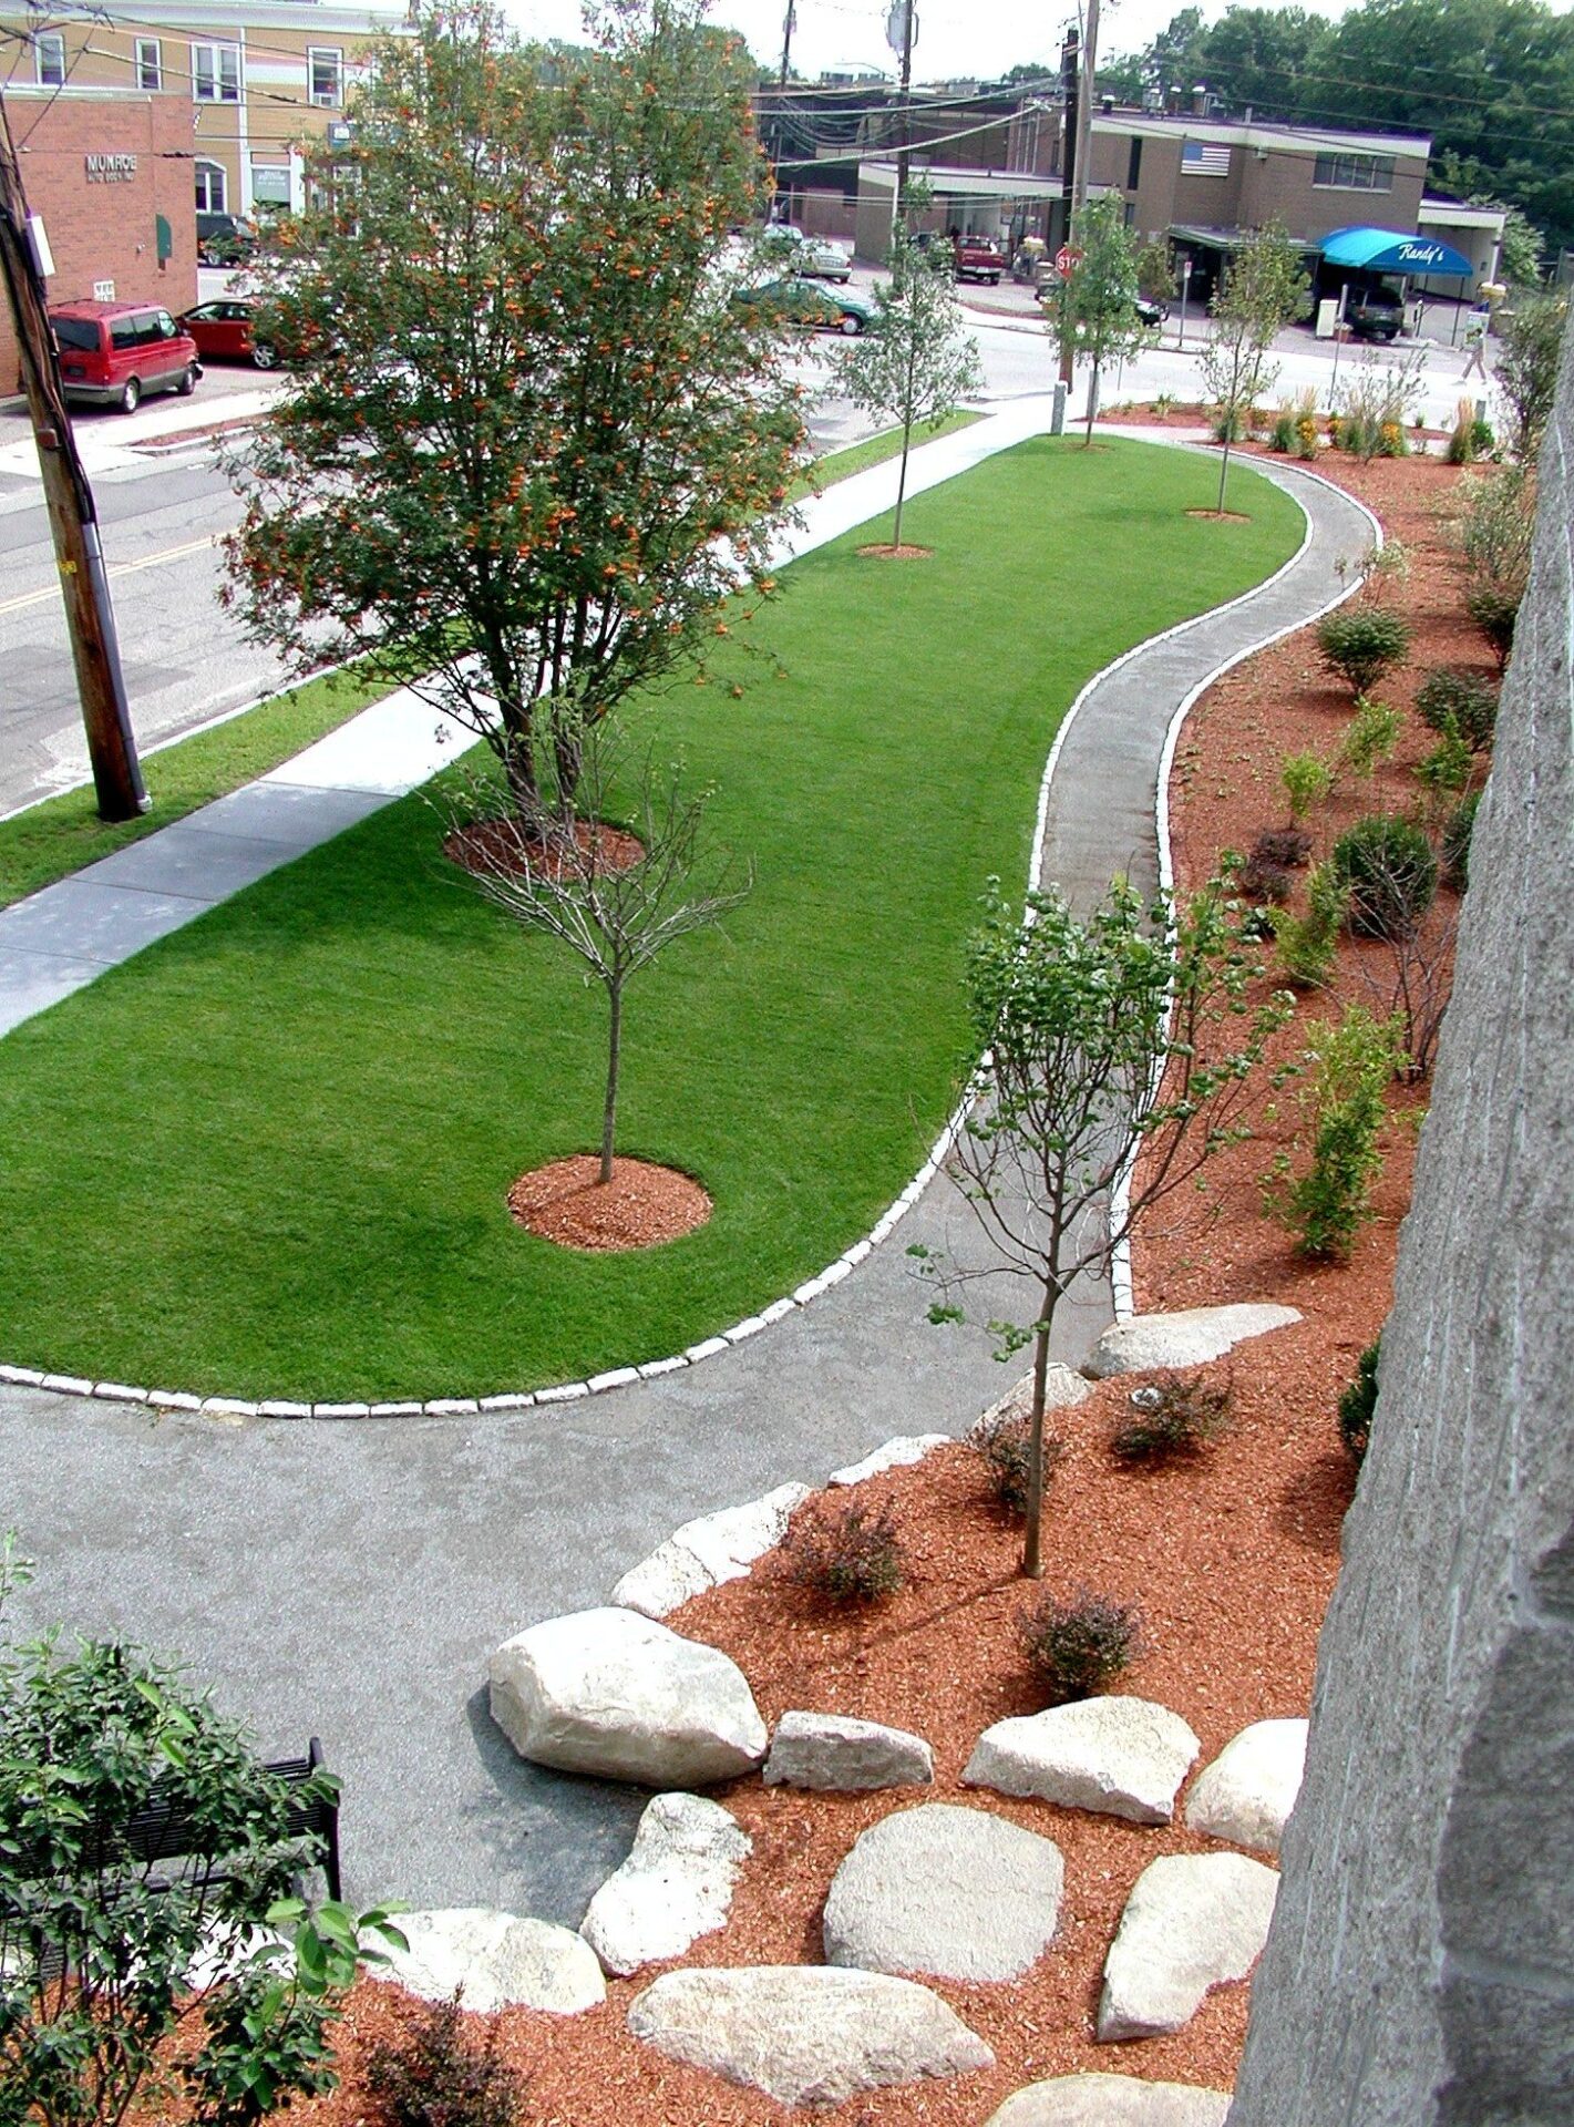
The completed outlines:
<svg viewBox="0 0 1574 2127">
<path fill-rule="evenodd" d="M 521 47 L 493 0 L 421 0 L 379 47 L 264 268 L 291 383 L 236 455 L 253 636 L 413 687 L 523 810 L 768 581 L 802 438 L 721 270 L 768 200 L 747 53 L 700 0 L 591 28 Z"/>
</svg>

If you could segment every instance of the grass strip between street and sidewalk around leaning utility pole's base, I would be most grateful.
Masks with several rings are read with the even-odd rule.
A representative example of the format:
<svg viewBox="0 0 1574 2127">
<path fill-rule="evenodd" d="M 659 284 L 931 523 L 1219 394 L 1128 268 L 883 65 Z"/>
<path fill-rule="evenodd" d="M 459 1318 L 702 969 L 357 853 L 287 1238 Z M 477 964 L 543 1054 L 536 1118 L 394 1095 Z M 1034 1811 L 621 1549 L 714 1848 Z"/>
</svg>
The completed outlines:
<svg viewBox="0 0 1574 2127">
<path fill-rule="evenodd" d="M 157 834 L 170 821 L 196 813 L 238 791 L 253 776 L 268 774 L 315 738 L 349 723 L 353 715 L 387 693 L 385 683 L 357 679 L 353 672 L 330 672 L 308 679 L 285 693 L 268 696 L 255 708 L 206 732 L 194 732 L 172 747 L 143 757 L 143 781 L 153 808 L 140 819 L 108 825 L 94 810 L 94 789 L 64 791 L 28 806 L 15 819 L 0 821 L 0 908 L 19 902 L 23 893 L 53 885 L 96 864 L 128 842 Z"/>
</svg>

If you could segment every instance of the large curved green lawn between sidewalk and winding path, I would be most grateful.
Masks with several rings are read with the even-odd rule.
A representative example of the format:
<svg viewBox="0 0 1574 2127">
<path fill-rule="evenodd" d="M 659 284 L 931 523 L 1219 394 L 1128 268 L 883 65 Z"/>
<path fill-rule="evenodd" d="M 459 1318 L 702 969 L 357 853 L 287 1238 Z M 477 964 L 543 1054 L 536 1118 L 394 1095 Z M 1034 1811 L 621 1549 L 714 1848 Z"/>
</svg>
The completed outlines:
<svg viewBox="0 0 1574 2127">
<path fill-rule="evenodd" d="M 593 1144 L 602 1000 L 519 938 L 411 798 L 0 1044 L 0 1346 L 238 1395 L 459 1395 L 651 1359 L 821 1270 L 951 1100 L 959 947 L 1023 881 L 1068 702 L 1140 636 L 1259 581 L 1293 502 L 1178 451 L 1032 442 L 908 504 L 927 562 L 798 562 L 781 659 L 657 706 L 757 870 L 725 936 L 630 991 L 621 1149 L 696 1172 L 708 1227 L 625 1257 L 504 1212 Z"/>
</svg>

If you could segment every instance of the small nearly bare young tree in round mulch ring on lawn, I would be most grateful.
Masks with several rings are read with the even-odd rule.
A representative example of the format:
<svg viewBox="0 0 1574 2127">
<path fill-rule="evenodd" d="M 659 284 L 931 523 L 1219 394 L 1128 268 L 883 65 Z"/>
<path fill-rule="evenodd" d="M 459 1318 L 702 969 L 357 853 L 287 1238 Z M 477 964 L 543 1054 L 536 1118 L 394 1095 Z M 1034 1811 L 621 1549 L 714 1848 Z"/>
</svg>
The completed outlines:
<svg viewBox="0 0 1574 2127">
<path fill-rule="evenodd" d="M 702 849 L 706 791 L 685 791 L 679 768 L 644 755 L 619 774 L 613 723 L 583 727 L 576 789 L 555 808 L 525 808 L 496 783 L 472 785 L 453 825 L 470 840 L 476 889 L 519 923 L 574 953 L 606 991 L 606 1095 L 602 1166 L 613 1178 L 617 1085 L 623 1057 L 623 991 L 679 938 L 736 908 L 753 872 L 725 851 Z M 615 825 L 615 821 L 627 825 Z"/>
</svg>

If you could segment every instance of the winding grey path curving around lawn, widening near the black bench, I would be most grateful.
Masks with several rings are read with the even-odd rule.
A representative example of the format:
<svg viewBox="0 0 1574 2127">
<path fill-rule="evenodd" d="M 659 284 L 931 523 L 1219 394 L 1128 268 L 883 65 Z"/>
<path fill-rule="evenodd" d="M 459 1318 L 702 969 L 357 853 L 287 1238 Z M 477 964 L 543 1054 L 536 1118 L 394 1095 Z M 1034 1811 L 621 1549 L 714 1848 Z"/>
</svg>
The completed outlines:
<svg viewBox="0 0 1574 2127">
<path fill-rule="evenodd" d="M 1012 436 L 1034 419 L 1012 408 Z M 1336 562 L 1370 545 L 1338 489 L 1293 466 L 1259 470 L 1308 508 L 1297 559 L 1115 666 L 1064 727 L 1042 874 L 1074 900 L 1098 898 L 1112 870 L 1155 872 L 1176 706 L 1336 602 Z M 891 500 L 868 500 L 870 481 L 859 519 Z M 851 506 L 840 489 L 825 502 L 838 517 Z M 576 1925 L 647 1797 L 515 1759 L 485 1710 L 489 1648 L 602 1602 L 691 1514 L 785 1478 L 819 1483 L 891 1434 L 966 1429 L 1006 1376 L 983 1336 L 927 1327 L 904 1255 L 949 1238 L 968 1242 L 970 1215 L 940 1180 L 891 1242 L 770 1332 L 513 1417 L 223 1425 L 0 1389 L 0 1527 L 38 1561 L 15 1623 L 179 1648 L 268 1755 L 321 1734 L 345 1780 L 351 1899 L 498 1904 Z M 1061 1353 L 1081 1357 L 1108 1314 L 1100 1293 L 1068 1310 Z"/>
</svg>

